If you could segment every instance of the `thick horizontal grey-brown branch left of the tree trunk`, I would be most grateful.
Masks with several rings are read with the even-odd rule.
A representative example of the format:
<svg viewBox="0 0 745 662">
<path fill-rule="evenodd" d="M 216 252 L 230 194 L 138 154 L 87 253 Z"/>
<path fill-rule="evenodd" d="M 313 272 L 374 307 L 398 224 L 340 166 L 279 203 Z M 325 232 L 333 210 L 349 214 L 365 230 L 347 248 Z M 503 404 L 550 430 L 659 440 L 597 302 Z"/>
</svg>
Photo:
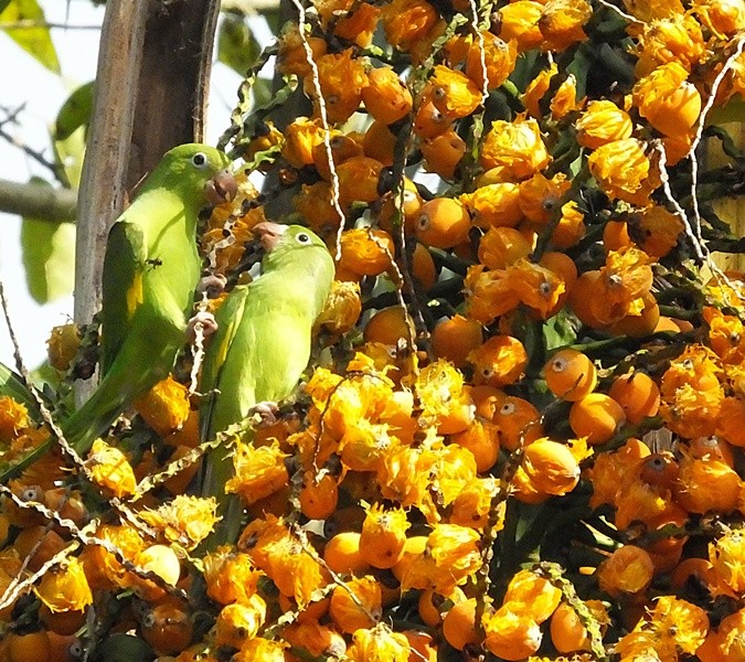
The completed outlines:
<svg viewBox="0 0 745 662">
<path fill-rule="evenodd" d="M 0 179 L 0 212 L 49 221 L 73 223 L 77 195 L 72 189 L 47 184 L 9 182 Z"/>
</svg>

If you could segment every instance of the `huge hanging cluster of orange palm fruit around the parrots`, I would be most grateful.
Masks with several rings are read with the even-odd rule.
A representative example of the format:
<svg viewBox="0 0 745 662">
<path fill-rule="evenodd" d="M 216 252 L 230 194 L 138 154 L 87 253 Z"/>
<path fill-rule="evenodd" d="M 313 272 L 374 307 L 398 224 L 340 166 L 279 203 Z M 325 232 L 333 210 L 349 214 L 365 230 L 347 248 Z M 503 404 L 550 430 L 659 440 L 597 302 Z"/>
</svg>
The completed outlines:
<svg viewBox="0 0 745 662">
<path fill-rule="evenodd" d="M 219 436 L 237 537 L 180 362 L 3 485 L 0 654 L 745 660 L 744 50 L 742 0 L 308 6 L 201 237 L 228 288 L 267 218 L 336 260 L 302 387 Z M 3 461 L 49 436 L 0 398 Z"/>
</svg>

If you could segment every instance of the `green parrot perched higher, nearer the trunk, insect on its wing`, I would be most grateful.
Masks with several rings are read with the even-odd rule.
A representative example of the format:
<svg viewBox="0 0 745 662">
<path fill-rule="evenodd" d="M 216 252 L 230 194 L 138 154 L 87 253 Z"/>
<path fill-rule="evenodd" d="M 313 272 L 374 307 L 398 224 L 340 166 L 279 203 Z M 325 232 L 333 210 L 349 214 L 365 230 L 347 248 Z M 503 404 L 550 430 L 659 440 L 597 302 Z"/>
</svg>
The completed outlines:
<svg viewBox="0 0 745 662">
<path fill-rule="evenodd" d="M 87 451 L 121 412 L 172 370 L 200 278 L 199 212 L 235 195 L 230 162 L 205 145 L 174 147 L 111 226 L 103 274 L 102 381 L 61 425 L 77 452 Z M 18 474 L 47 447 L 35 449 L 0 481 Z"/>
</svg>

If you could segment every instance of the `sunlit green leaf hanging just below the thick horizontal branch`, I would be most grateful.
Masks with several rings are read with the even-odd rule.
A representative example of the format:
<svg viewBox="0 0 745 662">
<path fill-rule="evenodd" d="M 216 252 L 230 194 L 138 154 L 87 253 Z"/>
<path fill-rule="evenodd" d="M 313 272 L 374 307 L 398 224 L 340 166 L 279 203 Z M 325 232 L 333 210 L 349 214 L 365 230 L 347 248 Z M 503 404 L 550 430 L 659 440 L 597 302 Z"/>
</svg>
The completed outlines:
<svg viewBox="0 0 745 662">
<path fill-rule="evenodd" d="M 23 218 L 21 250 L 25 281 L 35 301 L 46 303 L 72 293 L 75 284 L 74 224 Z"/>
</svg>

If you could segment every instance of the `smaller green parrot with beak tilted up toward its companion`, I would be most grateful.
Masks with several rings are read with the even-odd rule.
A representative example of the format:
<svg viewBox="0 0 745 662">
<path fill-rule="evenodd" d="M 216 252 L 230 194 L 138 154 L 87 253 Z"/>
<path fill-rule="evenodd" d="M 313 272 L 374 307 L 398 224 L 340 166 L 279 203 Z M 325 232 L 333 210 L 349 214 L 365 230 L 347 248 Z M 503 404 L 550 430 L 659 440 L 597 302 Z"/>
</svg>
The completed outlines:
<svg viewBox="0 0 745 662">
<path fill-rule="evenodd" d="M 254 233 L 267 252 L 262 275 L 227 296 L 204 356 L 203 440 L 292 393 L 308 365 L 311 329 L 333 282 L 333 259 L 309 229 L 265 222 Z M 209 547 L 235 541 L 240 532 L 238 499 L 225 495 L 232 473 L 230 451 L 220 446 L 207 456 L 202 487 L 203 495 L 217 500 L 223 517 Z"/>
</svg>

